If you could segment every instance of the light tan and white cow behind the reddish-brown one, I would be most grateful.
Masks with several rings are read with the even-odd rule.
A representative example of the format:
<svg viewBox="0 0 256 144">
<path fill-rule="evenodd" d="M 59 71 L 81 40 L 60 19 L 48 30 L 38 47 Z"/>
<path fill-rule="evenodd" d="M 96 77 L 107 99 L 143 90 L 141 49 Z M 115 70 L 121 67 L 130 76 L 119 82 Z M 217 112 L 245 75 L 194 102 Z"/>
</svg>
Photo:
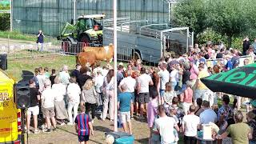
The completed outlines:
<svg viewBox="0 0 256 144">
<path fill-rule="evenodd" d="M 90 52 L 95 54 L 96 61 L 112 62 L 114 56 L 114 45 L 110 43 L 109 46 L 90 47 L 86 46 L 82 49 L 82 52 Z"/>
</svg>

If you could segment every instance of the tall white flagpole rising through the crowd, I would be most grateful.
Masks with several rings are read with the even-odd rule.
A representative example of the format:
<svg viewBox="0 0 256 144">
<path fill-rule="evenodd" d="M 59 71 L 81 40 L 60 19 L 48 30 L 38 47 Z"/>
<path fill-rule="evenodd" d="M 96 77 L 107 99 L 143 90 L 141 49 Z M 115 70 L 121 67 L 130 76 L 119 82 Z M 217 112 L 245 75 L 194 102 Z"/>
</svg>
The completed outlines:
<svg viewBox="0 0 256 144">
<path fill-rule="evenodd" d="M 113 23 L 114 23 L 114 131 L 118 131 L 118 85 L 117 85 L 117 0 L 113 2 Z"/>
</svg>

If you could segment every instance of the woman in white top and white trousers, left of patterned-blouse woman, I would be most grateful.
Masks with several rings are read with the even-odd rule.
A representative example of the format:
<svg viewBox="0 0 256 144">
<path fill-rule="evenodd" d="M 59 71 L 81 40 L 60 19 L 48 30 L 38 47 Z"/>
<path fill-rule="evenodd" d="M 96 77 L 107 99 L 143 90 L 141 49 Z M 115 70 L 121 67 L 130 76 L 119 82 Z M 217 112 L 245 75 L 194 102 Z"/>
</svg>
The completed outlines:
<svg viewBox="0 0 256 144">
<path fill-rule="evenodd" d="M 78 115 L 78 106 L 79 106 L 80 94 L 81 94 L 81 89 L 78 86 L 75 77 L 70 78 L 70 84 L 69 86 L 67 86 L 66 93 L 68 96 L 67 112 L 69 114 L 69 120 L 70 120 L 68 125 L 74 125 L 74 119 Z M 72 109 L 74 110 L 74 116 L 72 116 Z"/>
</svg>

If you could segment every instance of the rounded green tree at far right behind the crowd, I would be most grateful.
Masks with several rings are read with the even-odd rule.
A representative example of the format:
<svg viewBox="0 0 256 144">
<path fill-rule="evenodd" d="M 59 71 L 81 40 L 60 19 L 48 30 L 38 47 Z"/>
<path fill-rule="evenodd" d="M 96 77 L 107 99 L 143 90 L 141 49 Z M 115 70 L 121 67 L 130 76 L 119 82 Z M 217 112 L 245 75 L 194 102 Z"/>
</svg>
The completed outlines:
<svg viewBox="0 0 256 144">
<path fill-rule="evenodd" d="M 228 47 L 233 37 L 238 37 L 250 30 L 249 10 L 246 0 L 214 0 L 210 2 L 207 25 L 222 35 L 227 36 Z"/>
</svg>

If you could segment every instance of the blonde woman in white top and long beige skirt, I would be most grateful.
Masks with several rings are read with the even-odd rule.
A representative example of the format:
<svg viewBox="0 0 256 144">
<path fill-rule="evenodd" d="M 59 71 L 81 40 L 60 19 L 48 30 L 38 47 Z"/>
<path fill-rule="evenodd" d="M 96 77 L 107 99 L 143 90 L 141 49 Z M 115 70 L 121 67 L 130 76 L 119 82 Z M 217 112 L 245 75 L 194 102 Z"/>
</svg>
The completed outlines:
<svg viewBox="0 0 256 144">
<path fill-rule="evenodd" d="M 54 99 L 54 106 L 56 111 L 56 118 L 61 120 L 61 126 L 65 125 L 64 119 L 68 118 L 66 112 L 66 104 L 64 102 L 64 95 L 66 94 L 66 86 L 61 83 L 61 79 L 57 76 L 54 79 L 55 84 L 52 86 L 52 90 L 56 92 Z"/>
</svg>

